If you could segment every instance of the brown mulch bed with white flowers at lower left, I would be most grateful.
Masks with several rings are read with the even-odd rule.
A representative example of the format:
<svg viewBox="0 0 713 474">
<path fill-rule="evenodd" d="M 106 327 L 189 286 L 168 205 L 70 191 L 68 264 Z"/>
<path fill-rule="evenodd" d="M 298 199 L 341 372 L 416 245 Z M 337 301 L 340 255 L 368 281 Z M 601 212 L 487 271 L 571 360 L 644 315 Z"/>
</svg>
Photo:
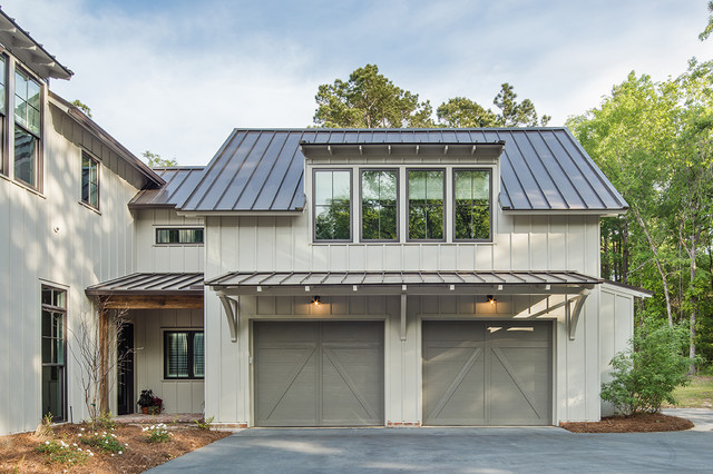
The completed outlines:
<svg viewBox="0 0 713 474">
<path fill-rule="evenodd" d="M 53 437 L 86 447 L 78 436 L 82 427 L 88 429 L 87 425 L 80 424 L 53 426 Z M 76 466 L 50 464 L 45 454 L 36 452 L 35 448 L 45 443 L 46 437 L 38 437 L 33 433 L 0 436 L 0 472 L 57 473 L 67 470 L 72 473 L 140 473 L 232 434 L 182 424 L 168 424 L 168 431 L 173 433 L 169 442 L 148 443 L 140 425 L 118 424 L 114 433 L 121 444 L 129 445 L 128 450 L 114 456 L 94 450 L 92 457 Z"/>
</svg>

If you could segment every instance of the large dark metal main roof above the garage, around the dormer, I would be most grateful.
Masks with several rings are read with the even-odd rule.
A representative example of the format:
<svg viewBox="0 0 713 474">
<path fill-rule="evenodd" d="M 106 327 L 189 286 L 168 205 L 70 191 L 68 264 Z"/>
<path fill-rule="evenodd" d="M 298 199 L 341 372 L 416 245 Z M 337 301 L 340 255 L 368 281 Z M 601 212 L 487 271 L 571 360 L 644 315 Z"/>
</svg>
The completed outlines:
<svg viewBox="0 0 713 474">
<path fill-rule="evenodd" d="M 309 144 L 495 144 L 505 141 L 500 205 L 506 210 L 611 213 L 628 205 L 569 130 L 236 129 L 177 207 L 185 211 L 294 211 L 305 205 Z"/>
</svg>

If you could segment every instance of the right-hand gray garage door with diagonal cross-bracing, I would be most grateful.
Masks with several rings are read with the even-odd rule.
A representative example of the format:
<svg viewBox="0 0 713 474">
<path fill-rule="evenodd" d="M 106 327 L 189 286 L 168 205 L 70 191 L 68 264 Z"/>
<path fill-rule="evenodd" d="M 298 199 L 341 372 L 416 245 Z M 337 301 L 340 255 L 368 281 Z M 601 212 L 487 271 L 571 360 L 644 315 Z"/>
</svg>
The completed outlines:
<svg viewBox="0 0 713 474">
<path fill-rule="evenodd" d="M 551 424 L 551 352 L 548 322 L 423 322 L 424 424 Z"/>
</svg>

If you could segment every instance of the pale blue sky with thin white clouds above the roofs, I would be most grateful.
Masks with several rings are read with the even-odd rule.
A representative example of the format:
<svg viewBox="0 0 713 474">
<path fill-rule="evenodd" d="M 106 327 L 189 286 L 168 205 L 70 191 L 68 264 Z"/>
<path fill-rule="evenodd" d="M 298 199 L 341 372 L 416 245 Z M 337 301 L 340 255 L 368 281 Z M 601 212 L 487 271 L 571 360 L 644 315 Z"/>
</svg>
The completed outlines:
<svg viewBox="0 0 713 474">
<path fill-rule="evenodd" d="M 322 83 L 375 63 L 430 100 L 502 82 L 560 126 L 631 71 L 713 59 L 707 0 L 3 0 L 64 66 L 50 89 L 136 156 L 206 165 L 234 128 L 306 127 Z"/>
</svg>

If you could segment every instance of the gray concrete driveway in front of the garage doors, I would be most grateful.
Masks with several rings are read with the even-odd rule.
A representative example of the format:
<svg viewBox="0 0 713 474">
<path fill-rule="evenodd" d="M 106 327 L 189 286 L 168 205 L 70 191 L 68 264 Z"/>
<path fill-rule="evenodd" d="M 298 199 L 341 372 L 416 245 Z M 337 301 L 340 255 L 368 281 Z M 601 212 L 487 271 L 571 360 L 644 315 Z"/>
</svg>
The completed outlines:
<svg viewBox="0 0 713 474">
<path fill-rule="evenodd" d="M 150 472 L 712 471 L 713 411 L 688 414 L 701 423 L 699 429 L 573 434 L 556 427 L 253 428 Z"/>
</svg>

